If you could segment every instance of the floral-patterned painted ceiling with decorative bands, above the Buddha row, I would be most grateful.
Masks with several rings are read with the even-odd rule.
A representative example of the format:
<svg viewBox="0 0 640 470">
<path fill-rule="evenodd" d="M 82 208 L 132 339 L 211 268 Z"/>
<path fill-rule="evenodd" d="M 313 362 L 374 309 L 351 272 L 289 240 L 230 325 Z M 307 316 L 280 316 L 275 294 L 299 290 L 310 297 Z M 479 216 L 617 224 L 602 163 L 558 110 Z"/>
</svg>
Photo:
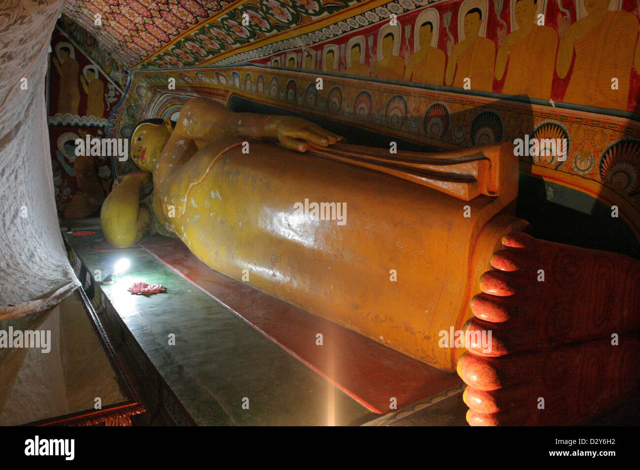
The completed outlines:
<svg viewBox="0 0 640 470">
<path fill-rule="evenodd" d="M 259 59 L 435 1 L 67 0 L 64 13 L 125 68 L 167 68 Z"/>
</svg>

